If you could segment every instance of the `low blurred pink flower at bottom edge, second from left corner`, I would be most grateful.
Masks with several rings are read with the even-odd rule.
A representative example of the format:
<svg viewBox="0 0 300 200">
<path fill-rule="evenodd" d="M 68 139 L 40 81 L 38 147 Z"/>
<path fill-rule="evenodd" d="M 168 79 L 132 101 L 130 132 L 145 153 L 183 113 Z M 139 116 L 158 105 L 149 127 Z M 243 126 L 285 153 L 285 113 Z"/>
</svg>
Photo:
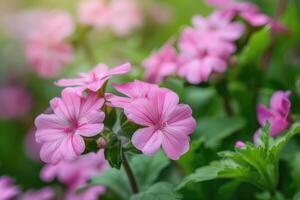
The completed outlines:
<svg viewBox="0 0 300 200">
<path fill-rule="evenodd" d="M 51 200 L 54 197 L 53 189 L 49 187 L 40 190 L 29 190 L 22 194 L 19 200 Z"/>
</svg>

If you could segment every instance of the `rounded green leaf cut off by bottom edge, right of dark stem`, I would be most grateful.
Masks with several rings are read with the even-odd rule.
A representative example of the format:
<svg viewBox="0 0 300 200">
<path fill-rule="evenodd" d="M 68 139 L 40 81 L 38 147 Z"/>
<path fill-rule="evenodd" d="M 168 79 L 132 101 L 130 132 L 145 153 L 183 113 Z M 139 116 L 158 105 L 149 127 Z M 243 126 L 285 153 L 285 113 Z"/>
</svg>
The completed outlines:
<svg viewBox="0 0 300 200">
<path fill-rule="evenodd" d="M 174 190 L 173 185 L 166 182 L 159 182 L 148 188 L 146 191 L 133 195 L 130 200 L 179 200 L 182 195 Z"/>
</svg>

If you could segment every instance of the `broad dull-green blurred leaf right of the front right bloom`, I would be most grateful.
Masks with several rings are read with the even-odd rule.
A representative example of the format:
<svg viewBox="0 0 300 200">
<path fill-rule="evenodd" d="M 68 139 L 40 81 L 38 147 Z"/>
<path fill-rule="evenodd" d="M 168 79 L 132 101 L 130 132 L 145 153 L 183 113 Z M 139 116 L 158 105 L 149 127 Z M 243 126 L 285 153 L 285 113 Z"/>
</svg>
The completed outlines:
<svg viewBox="0 0 300 200">
<path fill-rule="evenodd" d="M 199 120 L 197 133 L 202 134 L 205 146 L 216 148 L 224 138 L 243 128 L 245 121 L 241 117 L 212 117 Z"/>
</svg>

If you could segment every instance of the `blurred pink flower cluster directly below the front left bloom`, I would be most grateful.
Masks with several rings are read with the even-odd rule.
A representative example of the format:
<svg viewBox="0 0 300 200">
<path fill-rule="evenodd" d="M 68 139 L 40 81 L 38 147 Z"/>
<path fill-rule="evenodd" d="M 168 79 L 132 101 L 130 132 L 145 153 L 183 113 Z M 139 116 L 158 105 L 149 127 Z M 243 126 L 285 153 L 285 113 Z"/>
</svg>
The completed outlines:
<svg viewBox="0 0 300 200">
<path fill-rule="evenodd" d="M 41 171 L 44 181 L 52 181 L 57 177 L 58 181 L 68 186 L 65 199 L 70 200 L 96 200 L 98 196 L 105 193 L 106 188 L 98 185 L 90 187 L 81 193 L 77 189 L 84 186 L 92 176 L 99 176 L 107 169 L 108 163 L 104 158 L 103 150 L 98 153 L 88 153 L 78 157 L 76 160 L 63 160 L 56 165 L 47 164 Z"/>
</svg>

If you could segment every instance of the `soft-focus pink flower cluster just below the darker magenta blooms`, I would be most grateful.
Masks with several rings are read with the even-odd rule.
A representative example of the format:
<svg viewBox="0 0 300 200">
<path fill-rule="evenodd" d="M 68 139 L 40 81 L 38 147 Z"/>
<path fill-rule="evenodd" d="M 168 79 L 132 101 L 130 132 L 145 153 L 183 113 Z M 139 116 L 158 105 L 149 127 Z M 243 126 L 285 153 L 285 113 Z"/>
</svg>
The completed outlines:
<svg viewBox="0 0 300 200">
<path fill-rule="evenodd" d="M 244 26 L 220 11 L 207 18 L 194 16 L 192 22 L 193 27 L 180 34 L 178 55 L 167 43 L 144 61 L 146 81 L 159 83 L 177 73 L 189 83 L 198 84 L 208 81 L 212 73 L 227 69 L 227 60 L 236 50 L 234 41 L 241 37 Z"/>
</svg>

